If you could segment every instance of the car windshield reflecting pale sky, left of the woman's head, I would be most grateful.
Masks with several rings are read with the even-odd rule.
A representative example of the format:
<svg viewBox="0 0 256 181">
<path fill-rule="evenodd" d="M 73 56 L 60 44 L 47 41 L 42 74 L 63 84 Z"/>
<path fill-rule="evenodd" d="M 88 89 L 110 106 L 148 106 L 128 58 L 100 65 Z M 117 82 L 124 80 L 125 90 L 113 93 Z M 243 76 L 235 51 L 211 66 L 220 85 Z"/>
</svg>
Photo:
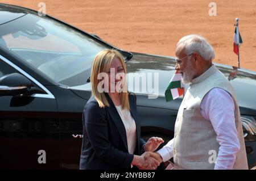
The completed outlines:
<svg viewBox="0 0 256 181">
<path fill-rule="evenodd" d="M 2 24 L 0 45 L 66 86 L 85 84 L 94 56 L 109 48 L 75 28 L 34 14 Z"/>
</svg>

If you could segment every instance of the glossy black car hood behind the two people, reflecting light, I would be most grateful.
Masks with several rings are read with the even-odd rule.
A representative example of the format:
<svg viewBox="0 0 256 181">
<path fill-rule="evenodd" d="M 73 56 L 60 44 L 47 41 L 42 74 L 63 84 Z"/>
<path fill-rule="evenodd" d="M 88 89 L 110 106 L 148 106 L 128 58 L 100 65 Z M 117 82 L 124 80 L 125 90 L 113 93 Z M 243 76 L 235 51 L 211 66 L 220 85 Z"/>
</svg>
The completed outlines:
<svg viewBox="0 0 256 181">
<path fill-rule="evenodd" d="M 127 79 L 128 79 L 127 82 L 129 82 L 129 76 L 134 73 L 146 73 L 147 76 L 151 74 L 153 80 L 155 75 L 158 74 L 157 75 L 159 77 L 158 78 L 159 79 L 158 95 L 160 97 L 164 97 L 164 91 L 166 90 L 166 87 L 168 86 L 168 83 L 170 82 L 172 75 L 175 73 L 174 57 L 156 56 L 151 54 L 133 52 L 133 57 L 131 58 L 131 60 L 126 62 L 126 65 L 127 65 Z M 216 65 L 217 68 L 227 78 L 229 74 L 232 73 L 233 71 L 232 66 L 216 64 L 216 63 L 214 63 L 214 65 Z M 137 75 L 135 75 L 135 77 L 136 76 Z M 142 83 L 144 82 L 142 81 L 140 83 L 139 90 L 135 90 L 135 86 L 131 87 L 130 85 L 128 85 L 129 91 L 132 91 L 132 92 L 135 92 L 136 94 L 141 94 L 141 95 L 151 94 L 151 92 L 148 92 L 147 90 L 143 91 L 141 89 Z M 234 87 L 240 108 L 242 109 L 245 108 L 245 110 L 247 110 L 246 112 L 249 112 L 248 113 L 249 115 L 251 114 L 255 115 L 256 114 L 256 111 L 255 111 L 256 110 L 256 96 L 255 96 L 256 95 L 256 72 L 246 70 L 246 69 L 239 69 L 237 73 L 237 77 L 234 78 L 232 81 L 230 81 L 230 83 Z M 153 87 L 154 87 L 154 83 L 153 83 Z M 82 91 L 82 90 L 89 91 L 90 90 L 89 84 L 77 86 L 77 87 L 74 87 L 74 89 L 73 87 L 71 87 L 71 89 L 82 98 L 89 99 L 88 92 L 86 92 L 85 94 Z M 154 100 L 150 100 L 150 103 L 151 104 L 154 103 Z M 159 106 L 161 108 L 170 109 L 170 106 L 166 106 L 167 104 L 164 103 L 162 104 L 162 106 L 160 105 Z M 140 106 L 143 106 L 143 105 L 140 105 Z M 148 106 L 148 105 L 144 105 L 144 106 Z M 154 107 L 154 105 L 152 105 L 152 107 Z"/>
</svg>

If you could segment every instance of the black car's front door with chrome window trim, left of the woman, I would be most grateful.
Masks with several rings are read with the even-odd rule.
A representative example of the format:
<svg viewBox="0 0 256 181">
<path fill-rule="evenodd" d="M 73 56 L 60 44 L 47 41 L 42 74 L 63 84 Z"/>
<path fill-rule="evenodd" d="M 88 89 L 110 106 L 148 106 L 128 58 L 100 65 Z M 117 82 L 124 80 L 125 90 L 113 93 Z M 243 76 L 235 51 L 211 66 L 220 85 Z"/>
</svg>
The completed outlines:
<svg viewBox="0 0 256 181">
<path fill-rule="evenodd" d="M 12 73 L 28 78 L 40 94 L 0 95 L 0 169 L 57 169 L 60 131 L 55 96 L 0 55 L 0 82 Z M 0 93 L 5 88 L 0 83 Z"/>
</svg>

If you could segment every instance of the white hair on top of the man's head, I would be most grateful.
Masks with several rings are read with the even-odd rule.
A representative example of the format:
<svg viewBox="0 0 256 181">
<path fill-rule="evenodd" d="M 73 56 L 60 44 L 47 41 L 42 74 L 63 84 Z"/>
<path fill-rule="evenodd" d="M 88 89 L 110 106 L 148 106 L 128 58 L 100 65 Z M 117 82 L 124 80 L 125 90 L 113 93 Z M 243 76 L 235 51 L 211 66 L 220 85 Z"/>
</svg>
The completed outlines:
<svg viewBox="0 0 256 181">
<path fill-rule="evenodd" d="M 182 37 L 177 43 L 177 49 L 184 50 L 187 55 L 197 52 L 204 60 L 213 60 L 215 56 L 213 47 L 203 36 L 199 35 Z"/>
</svg>

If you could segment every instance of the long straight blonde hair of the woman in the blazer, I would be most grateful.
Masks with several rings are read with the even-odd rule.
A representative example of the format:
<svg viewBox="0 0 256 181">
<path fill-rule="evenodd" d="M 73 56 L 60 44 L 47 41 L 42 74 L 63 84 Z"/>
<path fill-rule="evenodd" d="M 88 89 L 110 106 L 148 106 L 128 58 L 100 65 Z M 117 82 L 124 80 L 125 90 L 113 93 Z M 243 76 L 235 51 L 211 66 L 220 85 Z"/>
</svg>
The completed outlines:
<svg viewBox="0 0 256 181">
<path fill-rule="evenodd" d="M 92 95 L 97 100 L 98 105 L 100 107 L 105 107 L 105 106 L 109 107 L 109 103 L 108 103 L 108 100 L 106 99 L 105 93 L 99 92 L 97 89 L 98 83 L 102 81 L 97 77 L 98 77 L 98 74 L 100 73 L 108 73 L 110 64 L 114 57 L 120 60 L 123 67 L 123 71 L 126 75 L 125 60 L 123 60 L 121 53 L 119 53 L 117 50 L 114 50 L 114 49 L 102 50 L 100 53 L 96 55 L 96 57 L 92 62 L 92 69 L 90 72 L 90 82 L 92 83 Z M 127 108 L 127 110 L 130 110 L 126 81 L 122 87 L 122 91 L 119 92 L 119 98 L 121 101 L 122 109 Z"/>
</svg>

